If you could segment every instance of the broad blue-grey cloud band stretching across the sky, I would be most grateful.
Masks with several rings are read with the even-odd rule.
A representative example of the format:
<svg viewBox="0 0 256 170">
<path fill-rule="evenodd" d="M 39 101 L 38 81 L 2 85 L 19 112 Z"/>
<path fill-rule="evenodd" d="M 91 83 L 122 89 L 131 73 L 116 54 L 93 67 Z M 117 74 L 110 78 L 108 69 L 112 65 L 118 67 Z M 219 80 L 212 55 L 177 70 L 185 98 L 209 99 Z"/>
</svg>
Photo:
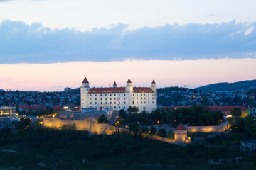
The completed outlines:
<svg viewBox="0 0 256 170">
<path fill-rule="evenodd" d="M 0 24 L 0 64 L 252 57 L 255 25 L 231 21 L 129 30 L 119 23 L 82 32 L 4 20 Z"/>
</svg>

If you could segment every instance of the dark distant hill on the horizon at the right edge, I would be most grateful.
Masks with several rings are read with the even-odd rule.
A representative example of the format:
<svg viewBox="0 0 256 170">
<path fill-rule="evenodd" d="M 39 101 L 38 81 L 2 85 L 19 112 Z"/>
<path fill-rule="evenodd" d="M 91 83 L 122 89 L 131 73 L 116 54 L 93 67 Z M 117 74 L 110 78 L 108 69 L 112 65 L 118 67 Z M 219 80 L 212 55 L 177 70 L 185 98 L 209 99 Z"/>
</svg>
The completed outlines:
<svg viewBox="0 0 256 170">
<path fill-rule="evenodd" d="M 206 92 L 215 92 L 215 91 L 236 91 L 238 89 L 250 89 L 256 88 L 256 80 L 246 80 L 239 81 L 235 83 L 217 83 L 209 84 L 206 86 L 201 86 L 196 88 L 197 90 L 206 91 Z"/>
</svg>

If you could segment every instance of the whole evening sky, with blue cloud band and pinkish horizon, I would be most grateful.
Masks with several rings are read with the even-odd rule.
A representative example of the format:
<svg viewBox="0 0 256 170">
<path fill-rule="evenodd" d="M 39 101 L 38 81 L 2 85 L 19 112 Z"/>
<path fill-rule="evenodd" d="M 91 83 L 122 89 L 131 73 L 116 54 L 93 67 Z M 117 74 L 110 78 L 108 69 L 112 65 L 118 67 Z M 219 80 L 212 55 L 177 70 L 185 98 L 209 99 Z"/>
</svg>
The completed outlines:
<svg viewBox="0 0 256 170">
<path fill-rule="evenodd" d="M 0 0 L 0 89 L 255 79 L 256 1 Z M 119 83 L 118 83 L 119 82 Z"/>
</svg>

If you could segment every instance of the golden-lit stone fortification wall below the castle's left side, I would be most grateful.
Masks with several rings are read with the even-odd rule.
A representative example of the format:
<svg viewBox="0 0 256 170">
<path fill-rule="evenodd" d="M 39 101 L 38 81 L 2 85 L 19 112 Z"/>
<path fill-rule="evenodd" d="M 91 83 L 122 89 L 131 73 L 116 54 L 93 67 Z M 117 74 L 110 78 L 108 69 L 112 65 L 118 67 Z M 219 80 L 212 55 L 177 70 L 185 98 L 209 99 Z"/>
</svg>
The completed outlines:
<svg viewBox="0 0 256 170">
<path fill-rule="evenodd" d="M 61 128 L 63 125 L 76 125 L 77 130 L 87 130 L 92 134 L 112 134 L 115 130 L 110 130 L 110 125 L 97 123 L 89 120 L 61 120 L 60 118 L 44 118 L 43 125 L 50 128 Z"/>
</svg>

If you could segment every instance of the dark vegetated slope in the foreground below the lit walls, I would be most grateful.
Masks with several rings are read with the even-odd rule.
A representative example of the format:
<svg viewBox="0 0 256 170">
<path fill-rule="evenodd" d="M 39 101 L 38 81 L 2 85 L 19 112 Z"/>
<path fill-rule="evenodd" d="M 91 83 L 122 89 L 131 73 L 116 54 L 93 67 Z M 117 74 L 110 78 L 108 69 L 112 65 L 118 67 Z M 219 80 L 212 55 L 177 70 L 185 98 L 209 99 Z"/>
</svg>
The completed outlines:
<svg viewBox="0 0 256 170">
<path fill-rule="evenodd" d="M 200 144 L 181 147 L 139 135 L 88 135 L 75 127 L 0 130 L 0 167 L 7 169 L 255 169 L 256 154 Z M 16 152 L 15 152 L 16 151 Z M 226 160 L 242 157 L 242 161 Z M 223 159 L 222 164 L 208 164 Z"/>
</svg>

